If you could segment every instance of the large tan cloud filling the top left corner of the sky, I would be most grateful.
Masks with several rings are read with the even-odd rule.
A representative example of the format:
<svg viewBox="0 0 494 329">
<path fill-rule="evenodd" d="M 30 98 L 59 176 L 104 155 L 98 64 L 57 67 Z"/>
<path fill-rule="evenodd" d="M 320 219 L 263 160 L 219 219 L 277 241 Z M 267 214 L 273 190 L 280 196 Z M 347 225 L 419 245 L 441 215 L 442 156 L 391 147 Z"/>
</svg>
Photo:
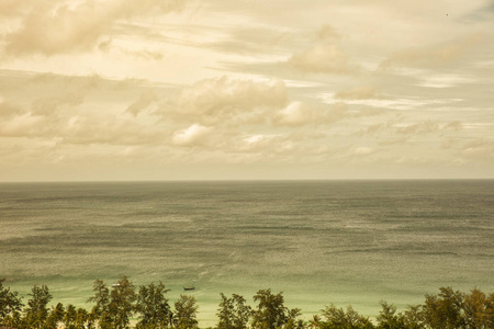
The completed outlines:
<svg viewBox="0 0 494 329">
<path fill-rule="evenodd" d="M 18 1 L 23 2 L 23 1 Z M 5 52 L 11 55 L 88 50 L 111 32 L 120 20 L 179 9 L 182 0 L 40 0 L 24 10 L 21 27 L 7 35 Z M 27 8 L 26 8 L 27 7 Z M 14 9 L 11 9 L 14 12 Z"/>
</svg>

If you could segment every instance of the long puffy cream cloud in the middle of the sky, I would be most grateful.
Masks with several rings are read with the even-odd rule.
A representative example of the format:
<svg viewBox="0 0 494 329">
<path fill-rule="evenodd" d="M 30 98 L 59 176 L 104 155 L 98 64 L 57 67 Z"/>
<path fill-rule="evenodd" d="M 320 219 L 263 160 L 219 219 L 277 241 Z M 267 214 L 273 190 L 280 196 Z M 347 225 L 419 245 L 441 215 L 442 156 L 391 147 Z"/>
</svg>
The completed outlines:
<svg viewBox="0 0 494 329">
<path fill-rule="evenodd" d="M 314 106 L 289 101 L 281 80 L 234 80 L 226 77 L 201 80 L 182 89 L 175 113 L 176 121 L 205 126 L 242 128 L 245 125 L 301 127 L 337 122 L 348 115 L 345 104 Z"/>
</svg>

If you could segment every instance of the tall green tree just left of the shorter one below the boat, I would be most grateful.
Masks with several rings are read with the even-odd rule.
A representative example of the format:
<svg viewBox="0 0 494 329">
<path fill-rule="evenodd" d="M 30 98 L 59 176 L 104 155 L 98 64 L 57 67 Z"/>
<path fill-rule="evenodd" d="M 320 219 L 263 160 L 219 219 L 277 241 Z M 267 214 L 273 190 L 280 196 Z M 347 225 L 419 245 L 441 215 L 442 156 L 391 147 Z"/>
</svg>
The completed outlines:
<svg viewBox="0 0 494 329">
<path fill-rule="evenodd" d="M 169 290 L 160 282 L 155 286 L 141 286 L 137 295 L 136 313 L 141 320 L 136 328 L 167 328 L 171 319 L 171 309 L 165 294 Z"/>
</svg>

